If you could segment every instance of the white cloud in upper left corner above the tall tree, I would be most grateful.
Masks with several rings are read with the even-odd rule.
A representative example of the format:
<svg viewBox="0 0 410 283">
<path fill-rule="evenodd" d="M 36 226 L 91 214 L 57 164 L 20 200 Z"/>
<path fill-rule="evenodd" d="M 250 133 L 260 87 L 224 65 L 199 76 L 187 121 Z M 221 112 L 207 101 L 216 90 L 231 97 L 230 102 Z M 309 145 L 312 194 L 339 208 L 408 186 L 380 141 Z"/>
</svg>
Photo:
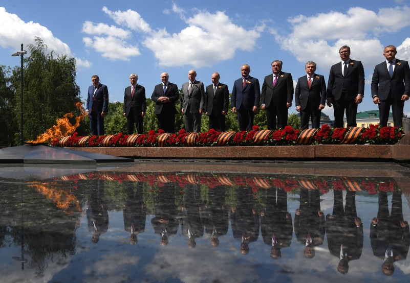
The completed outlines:
<svg viewBox="0 0 410 283">
<path fill-rule="evenodd" d="M 35 44 L 34 37 L 39 37 L 47 45 L 47 52 L 54 51 L 56 54 L 66 54 L 74 57 L 69 46 L 55 37 L 46 27 L 36 22 L 25 22 L 17 15 L 6 12 L 6 9 L 0 7 L 0 46 L 2 48 L 14 48 L 20 50 L 20 45 L 24 43 L 24 49 L 27 45 Z M 78 60 L 78 59 L 76 59 Z M 88 66 L 87 60 L 77 61 L 77 65 Z"/>
</svg>

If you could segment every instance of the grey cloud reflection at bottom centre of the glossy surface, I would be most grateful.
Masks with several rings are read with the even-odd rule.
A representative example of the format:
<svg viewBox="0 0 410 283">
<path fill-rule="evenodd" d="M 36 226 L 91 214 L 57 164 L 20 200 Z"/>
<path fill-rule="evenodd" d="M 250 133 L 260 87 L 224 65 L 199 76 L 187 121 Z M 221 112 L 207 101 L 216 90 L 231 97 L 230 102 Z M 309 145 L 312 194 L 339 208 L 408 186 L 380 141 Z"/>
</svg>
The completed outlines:
<svg viewBox="0 0 410 283">
<path fill-rule="evenodd" d="M 197 246 L 198 247 L 198 246 Z M 247 258 L 243 257 L 243 260 Z M 249 257 L 248 260 L 251 260 Z M 189 250 L 187 248 L 168 247 L 155 255 L 145 271 L 153 280 L 179 278 L 182 282 L 251 282 L 257 281 L 255 267 L 241 262 L 236 256 L 218 252 L 205 247 Z"/>
</svg>

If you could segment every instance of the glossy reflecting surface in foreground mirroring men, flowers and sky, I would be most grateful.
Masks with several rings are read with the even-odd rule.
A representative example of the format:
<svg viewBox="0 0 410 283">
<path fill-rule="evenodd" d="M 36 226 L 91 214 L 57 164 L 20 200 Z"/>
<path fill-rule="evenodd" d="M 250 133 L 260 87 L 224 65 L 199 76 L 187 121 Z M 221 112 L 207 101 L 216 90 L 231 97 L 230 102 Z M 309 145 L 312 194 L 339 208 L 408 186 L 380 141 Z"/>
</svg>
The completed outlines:
<svg viewBox="0 0 410 283">
<path fill-rule="evenodd" d="M 0 165 L 2 282 L 405 282 L 410 169 Z"/>
</svg>

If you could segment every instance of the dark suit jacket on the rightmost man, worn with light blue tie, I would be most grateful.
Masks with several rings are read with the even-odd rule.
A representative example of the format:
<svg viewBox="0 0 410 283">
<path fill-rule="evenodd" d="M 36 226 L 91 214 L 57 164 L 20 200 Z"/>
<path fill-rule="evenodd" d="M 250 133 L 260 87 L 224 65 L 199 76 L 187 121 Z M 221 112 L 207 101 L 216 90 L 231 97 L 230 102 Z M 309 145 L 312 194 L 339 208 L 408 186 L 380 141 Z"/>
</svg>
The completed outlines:
<svg viewBox="0 0 410 283">
<path fill-rule="evenodd" d="M 396 59 L 393 77 L 390 78 L 386 61 L 376 65 L 372 78 L 372 97 L 378 96 L 381 101 L 389 97 L 397 100 L 402 95 L 410 96 L 410 69 L 408 62 Z"/>
</svg>

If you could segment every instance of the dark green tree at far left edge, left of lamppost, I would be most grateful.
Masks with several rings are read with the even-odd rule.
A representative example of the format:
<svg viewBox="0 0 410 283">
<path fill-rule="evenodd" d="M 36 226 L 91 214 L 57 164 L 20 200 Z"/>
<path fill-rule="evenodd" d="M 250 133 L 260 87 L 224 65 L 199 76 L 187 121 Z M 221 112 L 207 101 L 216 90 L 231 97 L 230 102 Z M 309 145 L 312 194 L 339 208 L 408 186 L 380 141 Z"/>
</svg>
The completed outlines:
<svg viewBox="0 0 410 283">
<path fill-rule="evenodd" d="M 2 131 L 0 131 L 0 146 L 13 146 L 14 135 L 19 133 L 15 123 L 15 98 L 10 84 L 10 67 L 0 65 L 0 117 L 2 117 Z"/>
</svg>

